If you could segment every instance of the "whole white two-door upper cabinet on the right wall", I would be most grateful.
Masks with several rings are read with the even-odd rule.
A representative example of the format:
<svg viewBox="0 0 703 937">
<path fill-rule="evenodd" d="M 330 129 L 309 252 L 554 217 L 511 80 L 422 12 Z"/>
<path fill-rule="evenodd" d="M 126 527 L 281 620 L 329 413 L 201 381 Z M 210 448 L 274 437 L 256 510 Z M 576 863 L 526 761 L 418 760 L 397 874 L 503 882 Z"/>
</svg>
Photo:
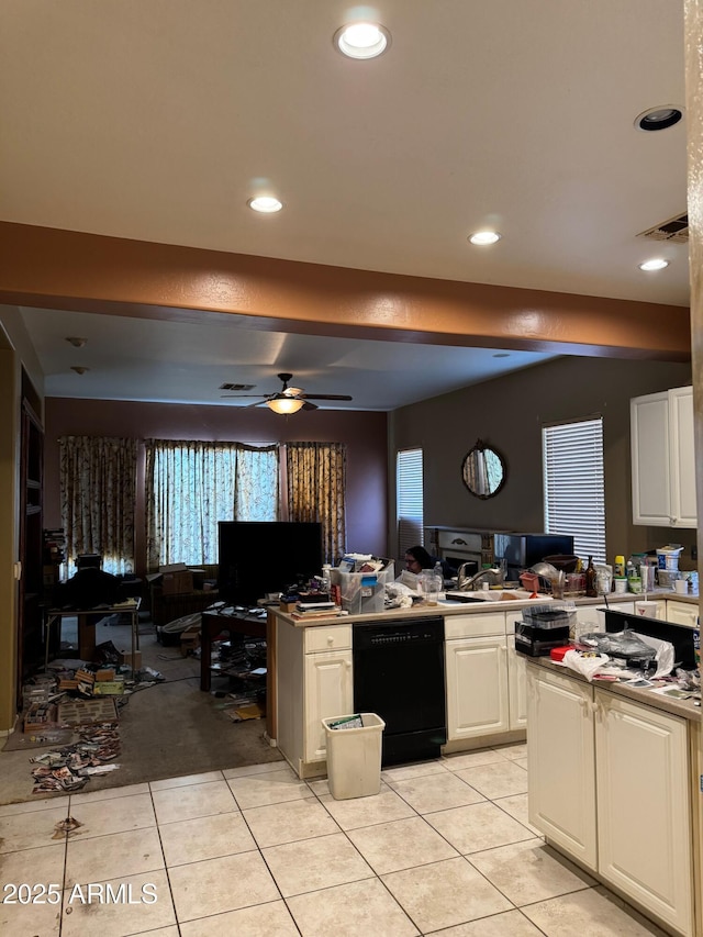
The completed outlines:
<svg viewBox="0 0 703 937">
<path fill-rule="evenodd" d="M 633 524 L 696 527 L 693 388 L 629 402 Z"/>
</svg>

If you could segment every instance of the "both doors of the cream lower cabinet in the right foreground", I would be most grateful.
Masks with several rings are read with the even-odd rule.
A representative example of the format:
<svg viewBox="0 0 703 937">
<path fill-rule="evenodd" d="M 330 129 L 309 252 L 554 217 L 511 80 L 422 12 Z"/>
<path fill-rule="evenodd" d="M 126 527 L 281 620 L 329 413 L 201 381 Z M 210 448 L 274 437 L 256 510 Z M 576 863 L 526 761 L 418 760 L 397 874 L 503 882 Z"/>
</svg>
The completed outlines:
<svg viewBox="0 0 703 937">
<path fill-rule="evenodd" d="M 531 824 L 690 937 L 687 721 L 546 670 L 527 684 Z"/>
</svg>

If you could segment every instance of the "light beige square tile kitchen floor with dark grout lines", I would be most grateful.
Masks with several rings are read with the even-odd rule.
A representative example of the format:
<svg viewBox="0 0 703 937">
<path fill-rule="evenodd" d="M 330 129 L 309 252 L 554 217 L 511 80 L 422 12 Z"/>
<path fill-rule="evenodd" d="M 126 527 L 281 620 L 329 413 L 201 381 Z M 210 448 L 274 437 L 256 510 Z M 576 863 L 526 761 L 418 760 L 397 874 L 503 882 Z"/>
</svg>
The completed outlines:
<svg viewBox="0 0 703 937">
<path fill-rule="evenodd" d="M 524 757 L 392 768 L 349 801 L 274 762 L 0 806 L 0 933 L 661 935 L 531 828 Z"/>
</svg>

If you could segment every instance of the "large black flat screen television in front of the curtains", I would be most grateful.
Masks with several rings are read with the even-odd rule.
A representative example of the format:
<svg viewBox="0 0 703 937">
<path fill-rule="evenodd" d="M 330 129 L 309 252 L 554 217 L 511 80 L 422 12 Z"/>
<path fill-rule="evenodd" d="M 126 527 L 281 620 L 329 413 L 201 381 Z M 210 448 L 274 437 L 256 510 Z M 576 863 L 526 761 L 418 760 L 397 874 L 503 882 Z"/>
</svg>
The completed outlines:
<svg viewBox="0 0 703 937">
<path fill-rule="evenodd" d="M 220 600 L 255 605 L 322 570 L 322 524 L 298 521 L 220 521 Z"/>
</svg>

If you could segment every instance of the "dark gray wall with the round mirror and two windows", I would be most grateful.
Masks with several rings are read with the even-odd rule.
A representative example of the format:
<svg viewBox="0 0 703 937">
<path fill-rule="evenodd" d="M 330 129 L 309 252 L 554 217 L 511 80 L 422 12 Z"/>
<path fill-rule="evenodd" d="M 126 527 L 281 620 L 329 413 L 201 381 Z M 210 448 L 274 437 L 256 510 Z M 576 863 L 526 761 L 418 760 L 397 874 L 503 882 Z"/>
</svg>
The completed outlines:
<svg viewBox="0 0 703 937">
<path fill-rule="evenodd" d="M 389 421 L 389 465 L 398 449 L 422 447 L 426 526 L 538 532 L 544 529 L 542 426 L 600 414 L 609 560 L 672 540 L 687 546 L 690 560 L 695 531 L 633 526 L 629 456 L 629 399 L 690 383 L 690 365 L 557 358 L 397 410 Z M 462 459 L 477 438 L 507 462 L 505 486 L 488 501 L 470 494 L 461 480 Z M 389 476 L 394 505 L 392 470 Z M 394 510 L 389 514 L 392 526 Z M 394 529 L 389 542 L 397 549 Z"/>
</svg>

